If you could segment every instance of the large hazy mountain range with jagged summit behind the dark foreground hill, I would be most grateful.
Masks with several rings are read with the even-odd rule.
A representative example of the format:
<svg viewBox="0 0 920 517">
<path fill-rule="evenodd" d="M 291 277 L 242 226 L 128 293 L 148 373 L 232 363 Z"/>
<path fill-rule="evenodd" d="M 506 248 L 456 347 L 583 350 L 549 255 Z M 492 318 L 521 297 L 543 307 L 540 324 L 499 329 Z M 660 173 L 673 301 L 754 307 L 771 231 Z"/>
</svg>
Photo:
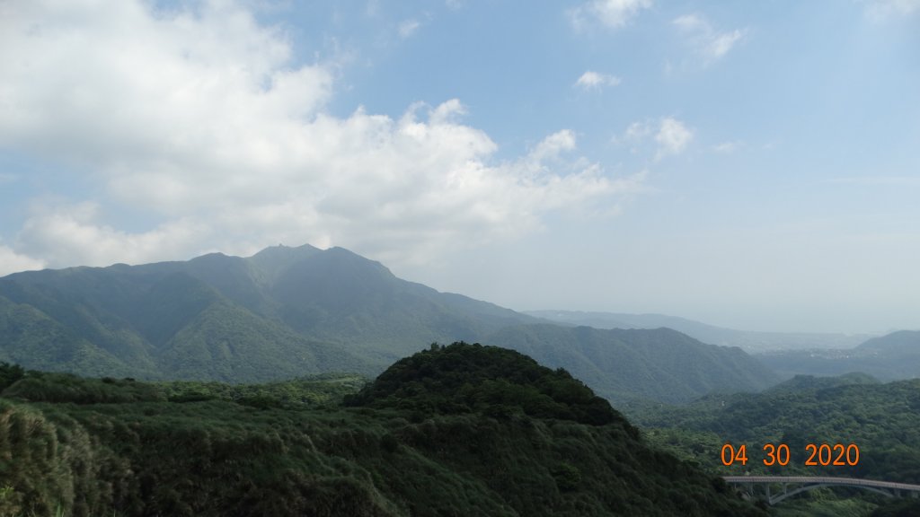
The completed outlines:
<svg viewBox="0 0 920 517">
<path fill-rule="evenodd" d="M 401 280 L 340 247 L 0 278 L 0 361 L 40 370 L 228 382 L 375 374 L 433 341 L 455 340 L 531 353 L 611 398 L 687 400 L 771 382 L 741 350 L 671 331 L 547 325 Z"/>
</svg>

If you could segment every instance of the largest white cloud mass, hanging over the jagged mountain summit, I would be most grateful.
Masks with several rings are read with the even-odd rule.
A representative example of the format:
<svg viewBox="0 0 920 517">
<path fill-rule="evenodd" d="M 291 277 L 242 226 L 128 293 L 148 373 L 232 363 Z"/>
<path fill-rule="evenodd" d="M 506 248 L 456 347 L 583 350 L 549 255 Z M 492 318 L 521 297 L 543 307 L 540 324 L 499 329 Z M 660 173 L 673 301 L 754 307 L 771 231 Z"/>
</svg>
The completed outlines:
<svg viewBox="0 0 920 517">
<path fill-rule="evenodd" d="M 232 2 L 196 6 L 0 4 L 0 141 L 105 201 L 36 210 L 17 253 L 58 267 L 310 242 L 425 261 L 641 182 L 606 176 L 568 131 L 499 161 L 457 99 L 333 116 L 336 63 L 295 62 Z M 154 222 L 126 229 L 112 207 Z"/>
</svg>

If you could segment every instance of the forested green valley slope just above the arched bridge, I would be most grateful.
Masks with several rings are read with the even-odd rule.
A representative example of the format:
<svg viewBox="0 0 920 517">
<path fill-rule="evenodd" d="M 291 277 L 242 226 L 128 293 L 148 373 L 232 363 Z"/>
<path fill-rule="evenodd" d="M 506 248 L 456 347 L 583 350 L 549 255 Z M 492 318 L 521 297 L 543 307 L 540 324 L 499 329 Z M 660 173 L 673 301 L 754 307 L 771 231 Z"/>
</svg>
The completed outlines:
<svg viewBox="0 0 920 517">
<path fill-rule="evenodd" d="M 858 477 L 920 484 L 920 380 L 917 379 L 880 384 L 864 374 L 799 376 L 761 394 L 706 396 L 683 408 L 647 408 L 630 416 L 647 428 L 651 442 L 707 467 L 712 473 L 737 476 L 750 471 L 776 476 Z M 725 443 L 736 447 L 747 444 L 748 464 L 722 465 L 719 454 Z M 787 444 L 791 453 L 789 464 L 764 465 L 766 443 Z M 809 443 L 817 446 L 828 443 L 832 447 L 836 443 L 855 444 L 859 448 L 857 465 L 821 465 L 820 460 L 816 460 L 818 465 L 805 465 L 811 455 L 807 450 Z M 834 493 L 839 497 L 846 495 L 840 490 Z M 882 502 L 865 492 L 854 495 L 858 500 Z M 815 504 L 821 506 L 820 502 Z M 920 508 L 913 508 L 917 510 Z"/>
</svg>

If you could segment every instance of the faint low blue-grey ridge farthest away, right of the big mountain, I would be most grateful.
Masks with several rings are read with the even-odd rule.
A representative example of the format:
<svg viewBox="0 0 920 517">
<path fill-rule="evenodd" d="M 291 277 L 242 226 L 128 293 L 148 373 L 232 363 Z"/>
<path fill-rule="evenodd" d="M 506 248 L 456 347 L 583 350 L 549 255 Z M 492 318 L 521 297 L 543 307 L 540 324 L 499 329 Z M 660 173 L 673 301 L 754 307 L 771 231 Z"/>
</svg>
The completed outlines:
<svg viewBox="0 0 920 517">
<path fill-rule="evenodd" d="M 834 334 L 809 332 L 756 332 L 715 327 L 691 319 L 660 314 L 624 314 L 562 310 L 524 311 L 557 323 L 586 325 L 595 328 L 659 328 L 668 327 L 704 343 L 726 347 L 741 347 L 748 352 L 769 350 L 849 349 L 856 347 L 869 334 Z"/>
</svg>

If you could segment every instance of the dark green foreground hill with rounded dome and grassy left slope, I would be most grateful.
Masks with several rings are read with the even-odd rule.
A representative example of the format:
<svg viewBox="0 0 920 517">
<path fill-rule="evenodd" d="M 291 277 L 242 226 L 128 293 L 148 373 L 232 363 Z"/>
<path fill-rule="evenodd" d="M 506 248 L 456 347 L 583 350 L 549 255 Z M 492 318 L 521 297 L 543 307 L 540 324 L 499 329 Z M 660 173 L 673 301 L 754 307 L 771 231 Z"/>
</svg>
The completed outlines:
<svg viewBox="0 0 920 517">
<path fill-rule="evenodd" d="M 354 379 L 150 385 L 0 368 L 0 513 L 765 516 L 512 350 Z M 3 387 L 3 386 L 0 386 Z"/>
</svg>

